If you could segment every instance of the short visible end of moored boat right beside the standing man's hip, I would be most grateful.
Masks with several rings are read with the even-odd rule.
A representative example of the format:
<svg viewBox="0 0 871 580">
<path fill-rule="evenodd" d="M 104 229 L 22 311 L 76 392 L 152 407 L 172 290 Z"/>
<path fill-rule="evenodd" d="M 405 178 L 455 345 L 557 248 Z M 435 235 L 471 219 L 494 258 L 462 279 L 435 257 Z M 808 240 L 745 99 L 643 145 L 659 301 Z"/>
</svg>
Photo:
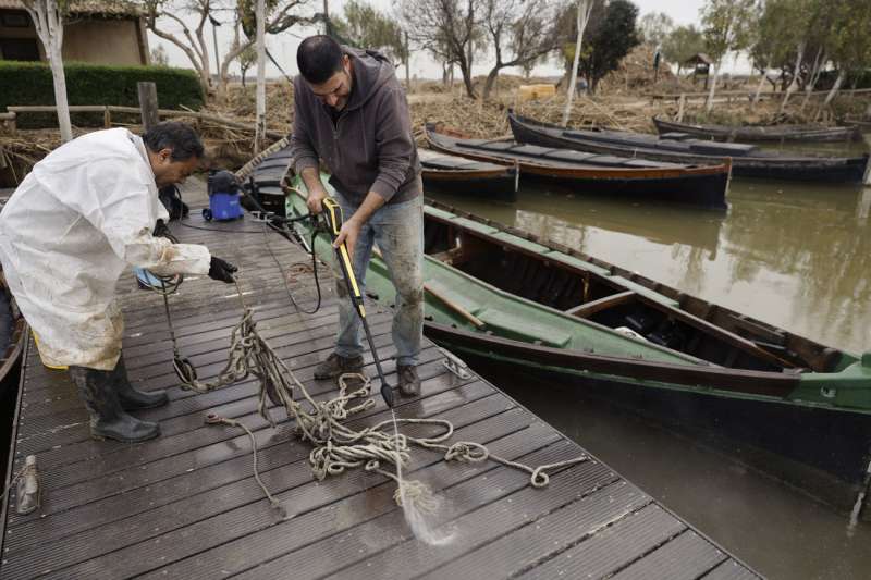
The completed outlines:
<svg viewBox="0 0 871 580">
<path fill-rule="evenodd" d="M 418 149 L 424 190 L 484 199 L 514 200 L 517 197 L 517 168 Z"/>
</svg>

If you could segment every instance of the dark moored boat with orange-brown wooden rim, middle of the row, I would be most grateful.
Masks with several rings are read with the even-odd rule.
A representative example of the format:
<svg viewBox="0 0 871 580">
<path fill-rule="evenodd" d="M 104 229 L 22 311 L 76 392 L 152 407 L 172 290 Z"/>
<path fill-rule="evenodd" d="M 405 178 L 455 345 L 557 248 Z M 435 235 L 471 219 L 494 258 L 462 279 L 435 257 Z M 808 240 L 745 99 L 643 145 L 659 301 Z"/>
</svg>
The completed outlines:
<svg viewBox="0 0 871 580">
<path fill-rule="evenodd" d="M 541 180 L 573 193 L 728 209 L 728 161 L 719 165 L 682 165 L 501 139 L 464 139 L 441 134 L 432 124 L 427 125 L 427 139 L 438 151 L 517 166 L 522 181 Z"/>
</svg>

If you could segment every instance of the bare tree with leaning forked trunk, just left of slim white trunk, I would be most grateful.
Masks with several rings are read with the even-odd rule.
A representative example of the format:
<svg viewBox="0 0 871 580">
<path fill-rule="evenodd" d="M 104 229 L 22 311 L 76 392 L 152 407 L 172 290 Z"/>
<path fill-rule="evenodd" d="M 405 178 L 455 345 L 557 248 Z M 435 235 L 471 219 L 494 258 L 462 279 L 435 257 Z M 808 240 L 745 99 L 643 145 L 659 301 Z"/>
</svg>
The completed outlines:
<svg viewBox="0 0 871 580">
<path fill-rule="evenodd" d="M 484 100 L 490 98 L 499 71 L 532 65 L 560 47 L 556 22 L 549 0 L 484 0 L 483 27 L 496 57 L 487 75 Z"/>
</svg>

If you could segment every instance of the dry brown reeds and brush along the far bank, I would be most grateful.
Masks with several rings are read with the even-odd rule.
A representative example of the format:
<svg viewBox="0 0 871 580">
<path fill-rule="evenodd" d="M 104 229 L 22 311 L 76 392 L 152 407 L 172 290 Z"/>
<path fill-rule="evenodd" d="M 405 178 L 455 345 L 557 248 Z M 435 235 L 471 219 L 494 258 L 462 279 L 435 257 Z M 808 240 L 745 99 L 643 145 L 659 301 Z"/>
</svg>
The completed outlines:
<svg viewBox="0 0 871 580">
<path fill-rule="evenodd" d="M 639 57 L 640 52 L 640 57 Z M 871 95 L 839 95 L 819 114 L 823 96 L 814 96 L 810 106 L 802 107 L 802 99 L 793 99 L 781 111 L 783 92 L 766 94 L 752 104 L 758 77 L 733 77 L 721 87 L 721 96 L 710 113 L 704 110 L 704 99 L 698 95 L 702 84 L 694 85 L 685 77 L 671 74 L 667 65 L 661 71 L 659 81 L 652 83 L 652 70 L 643 61 L 645 53 L 636 50 L 624 59 L 621 66 L 605 77 L 596 95 L 580 96 L 574 100 L 568 119 L 569 127 L 609 127 L 639 133 L 655 133 L 651 119 L 660 115 L 675 119 L 679 112 L 678 95 L 695 95 L 685 103 L 685 122 L 717 123 L 725 125 L 772 125 L 821 122 L 837 125 L 845 119 L 862 119 L 871 107 Z M 408 94 L 415 137 L 425 146 L 424 126 L 427 122 L 443 122 L 458 127 L 470 137 L 503 137 L 511 133 L 507 110 L 548 123 L 560 123 L 566 96 L 563 86 L 555 96 L 539 100 L 522 100 L 519 87 L 529 84 L 555 84 L 555 78 L 530 78 L 501 75 L 494 94 L 489 100 L 469 99 L 463 94 L 462 83 L 453 86 L 439 81 L 414 81 Z M 476 77 L 483 84 L 484 76 Z M 255 87 L 248 84 L 231 85 L 222 104 L 209 104 L 204 112 L 236 123 L 250 125 L 252 131 L 228 127 L 210 122 L 189 119 L 197 125 L 207 146 L 208 164 L 212 168 L 233 169 L 244 164 L 253 156 Z M 293 88 L 286 79 L 267 86 L 267 126 L 269 129 L 287 133 L 293 124 Z M 185 121 L 185 118 L 180 118 Z M 121 115 L 112 126 L 127 126 L 140 131 L 135 115 Z M 73 127 L 74 136 L 99 127 Z M 0 125 L 0 186 L 14 187 L 34 163 L 61 145 L 58 128 L 10 131 Z M 4 174 L 4 175 L 3 175 Z M 10 183 L 11 181 L 11 183 Z M 5 182 L 5 183 L 3 183 Z"/>
</svg>

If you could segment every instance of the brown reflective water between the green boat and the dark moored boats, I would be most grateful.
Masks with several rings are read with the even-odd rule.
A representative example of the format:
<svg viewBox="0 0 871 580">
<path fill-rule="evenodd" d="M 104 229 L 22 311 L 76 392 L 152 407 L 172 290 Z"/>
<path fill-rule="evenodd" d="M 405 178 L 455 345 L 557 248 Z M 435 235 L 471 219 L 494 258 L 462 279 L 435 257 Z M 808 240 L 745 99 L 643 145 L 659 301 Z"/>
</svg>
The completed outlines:
<svg viewBox="0 0 871 580">
<path fill-rule="evenodd" d="M 524 188 L 436 199 L 839 348 L 871 347 L 871 188 L 733 180 L 726 215 Z"/>
</svg>

